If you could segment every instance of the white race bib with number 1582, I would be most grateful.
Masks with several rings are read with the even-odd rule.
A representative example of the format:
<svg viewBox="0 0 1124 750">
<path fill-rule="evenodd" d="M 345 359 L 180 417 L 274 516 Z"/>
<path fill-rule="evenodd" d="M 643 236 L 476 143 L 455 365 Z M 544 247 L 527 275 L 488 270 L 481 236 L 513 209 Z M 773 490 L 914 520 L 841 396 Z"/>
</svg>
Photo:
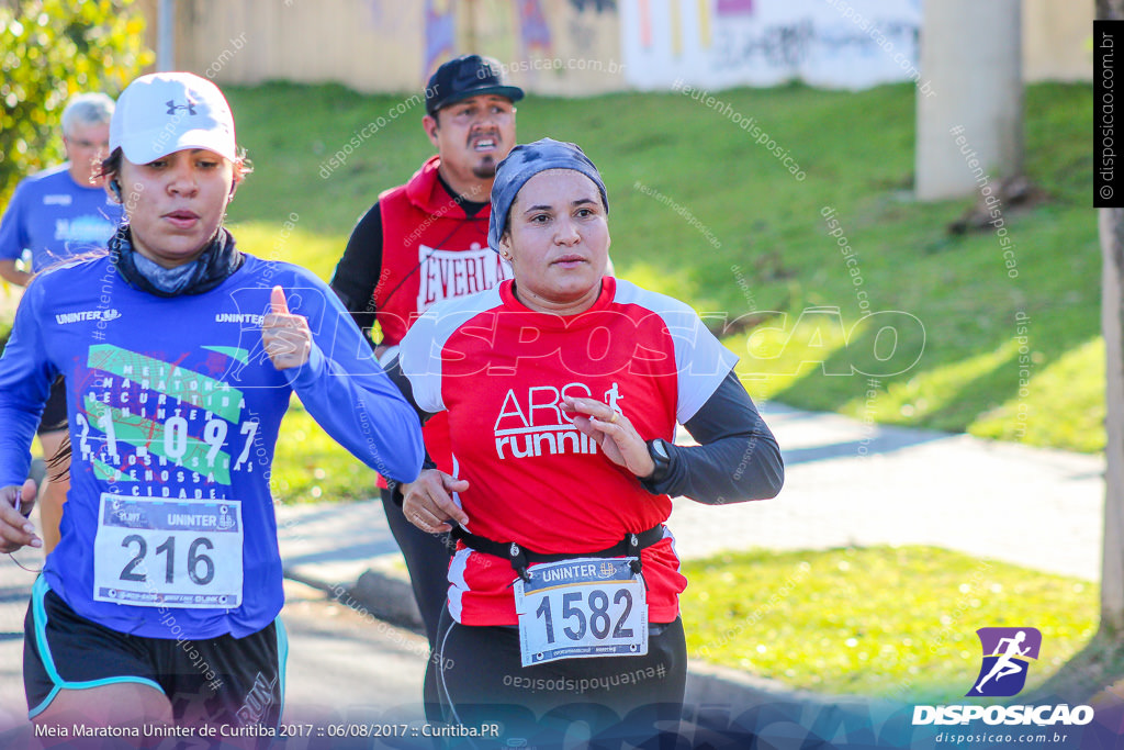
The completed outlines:
<svg viewBox="0 0 1124 750">
<path fill-rule="evenodd" d="M 515 581 L 523 666 L 647 653 L 644 581 L 635 558 L 575 558 L 535 566 Z"/>
</svg>

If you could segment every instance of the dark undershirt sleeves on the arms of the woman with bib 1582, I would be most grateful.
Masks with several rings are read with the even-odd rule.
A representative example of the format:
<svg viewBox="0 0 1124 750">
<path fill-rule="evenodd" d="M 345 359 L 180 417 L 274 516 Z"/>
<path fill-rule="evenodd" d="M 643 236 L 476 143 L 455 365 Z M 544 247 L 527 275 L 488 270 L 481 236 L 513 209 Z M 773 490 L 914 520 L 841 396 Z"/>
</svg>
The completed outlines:
<svg viewBox="0 0 1124 750">
<path fill-rule="evenodd" d="M 432 414 L 418 408 L 414 388 L 396 356 L 387 374 L 398 386 L 423 424 Z M 706 404 L 683 425 L 699 444 L 670 445 L 667 477 L 644 487 L 654 495 L 685 496 L 707 505 L 776 497 L 785 484 L 785 461 L 777 439 L 733 371 Z M 426 468 L 432 461 L 426 455 Z"/>
</svg>

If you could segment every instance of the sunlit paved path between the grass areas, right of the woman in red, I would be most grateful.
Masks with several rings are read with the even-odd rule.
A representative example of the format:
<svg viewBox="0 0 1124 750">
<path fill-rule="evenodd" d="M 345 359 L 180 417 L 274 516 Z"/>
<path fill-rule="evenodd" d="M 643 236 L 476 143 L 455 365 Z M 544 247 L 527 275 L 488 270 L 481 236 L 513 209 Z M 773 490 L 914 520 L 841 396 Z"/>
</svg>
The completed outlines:
<svg viewBox="0 0 1124 750">
<path fill-rule="evenodd" d="M 1102 457 L 768 404 L 785 489 L 723 508 L 680 498 L 669 526 L 686 558 L 723 549 L 932 544 L 1100 579 Z"/>
</svg>

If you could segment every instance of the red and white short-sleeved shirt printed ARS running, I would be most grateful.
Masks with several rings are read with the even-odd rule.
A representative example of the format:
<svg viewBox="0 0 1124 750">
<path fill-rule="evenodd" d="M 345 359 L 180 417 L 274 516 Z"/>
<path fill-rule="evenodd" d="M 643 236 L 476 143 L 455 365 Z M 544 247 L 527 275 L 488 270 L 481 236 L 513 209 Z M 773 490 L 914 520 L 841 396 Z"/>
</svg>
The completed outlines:
<svg viewBox="0 0 1124 750">
<path fill-rule="evenodd" d="M 609 461 L 562 398 L 602 400 L 644 440 L 671 440 L 737 362 L 690 307 L 611 277 L 573 316 L 531 310 L 511 281 L 438 302 L 406 334 L 400 358 L 418 406 L 448 412 L 454 473 L 469 482 L 455 498 L 466 530 L 574 557 L 667 521 L 671 498 Z M 687 585 L 671 533 L 642 555 L 649 620 L 671 622 Z M 461 545 L 448 572 L 453 618 L 515 625 L 515 577 L 506 560 Z"/>
</svg>

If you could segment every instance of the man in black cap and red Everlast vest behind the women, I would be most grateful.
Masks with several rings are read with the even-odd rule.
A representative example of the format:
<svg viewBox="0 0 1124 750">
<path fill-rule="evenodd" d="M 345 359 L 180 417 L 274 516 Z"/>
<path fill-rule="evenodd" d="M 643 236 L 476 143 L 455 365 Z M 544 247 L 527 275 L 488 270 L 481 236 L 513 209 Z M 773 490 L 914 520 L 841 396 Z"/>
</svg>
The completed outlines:
<svg viewBox="0 0 1124 750">
<path fill-rule="evenodd" d="M 488 247 L 496 166 L 515 146 L 515 102 L 496 61 L 480 55 L 451 60 L 425 91 L 422 126 L 437 148 L 410 180 L 379 196 L 347 241 L 332 288 L 363 331 L 375 324 L 375 355 L 388 362 L 414 320 L 432 304 L 483 291 L 511 275 Z M 425 444 L 437 468 L 456 473 L 445 414 L 429 419 Z M 406 558 L 414 596 L 433 647 L 448 589 L 447 535 L 426 534 L 402 515 L 386 482 L 382 503 Z"/>
</svg>

